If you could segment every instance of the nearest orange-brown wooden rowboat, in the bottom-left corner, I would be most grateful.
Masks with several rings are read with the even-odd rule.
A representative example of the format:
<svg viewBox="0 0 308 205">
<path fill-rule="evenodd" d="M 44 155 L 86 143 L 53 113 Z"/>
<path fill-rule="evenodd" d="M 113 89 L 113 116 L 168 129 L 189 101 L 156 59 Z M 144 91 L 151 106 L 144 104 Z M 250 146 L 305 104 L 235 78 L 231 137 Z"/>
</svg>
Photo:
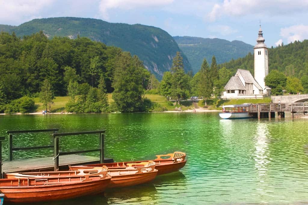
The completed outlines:
<svg viewBox="0 0 308 205">
<path fill-rule="evenodd" d="M 16 177 L 10 174 L 9 179 L 0 179 L 0 191 L 5 195 L 5 202 L 34 203 L 100 193 L 111 180 L 107 167 L 58 174 L 25 173 L 28 177 L 22 176 L 21 173 L 16 173 Z"/>
</svg>

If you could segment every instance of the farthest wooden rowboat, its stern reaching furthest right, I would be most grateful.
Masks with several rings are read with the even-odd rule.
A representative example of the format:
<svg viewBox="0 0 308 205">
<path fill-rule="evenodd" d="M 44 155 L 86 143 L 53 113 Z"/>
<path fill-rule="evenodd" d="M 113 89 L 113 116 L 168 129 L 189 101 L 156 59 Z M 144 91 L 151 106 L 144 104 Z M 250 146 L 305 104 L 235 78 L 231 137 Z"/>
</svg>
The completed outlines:
<svg viewBox="0 0 308 205">
<path fill-rule="evenodd" d="M 161 174 L 168 174 L 174 171 L 179 171 L 181 168 L 183 168 L 186 164 L 186 160 L 180 161 L 180 162 L 174 162 L 173 160 L 152 160 L 156 163 L 155 169 L 158 170 L 157 175 Z M 108 167 L 109 170 L 111 169 L 119 169 L 119 168 L 126 168 L 126 164 L 129 163 L 140 163 L 140 162 L 147 162 L 144 161 L 133 161 L 133 162 L 114 162 L 114 163 L 104 163 L 104 164 L 85 164 L 83 166 L 86 167 L 101 167 L 105 165 Z"/>
</svg>

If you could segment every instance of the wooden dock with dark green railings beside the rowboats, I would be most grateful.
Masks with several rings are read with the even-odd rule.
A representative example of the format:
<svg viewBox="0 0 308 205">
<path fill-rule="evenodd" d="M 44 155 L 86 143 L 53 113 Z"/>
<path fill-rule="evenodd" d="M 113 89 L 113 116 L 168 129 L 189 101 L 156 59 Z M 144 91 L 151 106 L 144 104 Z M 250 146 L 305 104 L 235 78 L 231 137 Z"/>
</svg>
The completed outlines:
<svg viewBox="0 0 308 205">
<path fill-rule="evenodd" d="M 2 161 L 2 140 L 5 137 L 0 137 L 0 171 L 3 172 L 24 172 L 24 171 L 59 171 L 66 169 L 67 165 L 80 165 L 80 164 L 95 164 L 95 163 L 108 163 L 113 162 L 113 159 L 104 157 L 104 130 L 87 131 L 87 132 L 66 132 L 57 133 L 59 129 L 44 129 L 44 130 L 14 130 L 7 131 L 8 134 L 8 160 Z M 33 133 L 33 132 L 52 132 L 53 144 L 45 146 L 33 147 L 13 147 L 13 137 L 19 133 Z M 14 135 L 13 135 L 14 134 Z M 79 150 L 71 152 L 61 152 L 59 150 L 60 139 L 63 136 L 80 136 L 88 134 L 98 134 L 99 148 L 90 150 Z M 53 157 L 41 157 L 34 159 L 13 160 L 13 151 L 18 150 L 34 150 L 43 148 L 53 148 Z M 99 151 L 99 157 L 79 155 L 86 152 Z"/>
</svg>

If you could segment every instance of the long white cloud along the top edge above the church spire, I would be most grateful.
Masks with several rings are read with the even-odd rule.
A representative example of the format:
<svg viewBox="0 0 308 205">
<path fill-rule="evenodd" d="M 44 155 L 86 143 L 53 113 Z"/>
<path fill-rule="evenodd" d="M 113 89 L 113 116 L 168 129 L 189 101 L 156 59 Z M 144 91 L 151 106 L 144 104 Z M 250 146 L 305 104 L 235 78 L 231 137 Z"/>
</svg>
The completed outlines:
<svg viewBox="0 0 308 205">
<path fill-rule="evenodd" d="M 245 16 L 251 14 L 260 15 L 290 15 L 303 12 L 308 9 L 307 0 L 224 0 L 223 3 L 215 4 L 208 14 L 210 21 L 216 21 L 221 16 Z"/>
</svg>

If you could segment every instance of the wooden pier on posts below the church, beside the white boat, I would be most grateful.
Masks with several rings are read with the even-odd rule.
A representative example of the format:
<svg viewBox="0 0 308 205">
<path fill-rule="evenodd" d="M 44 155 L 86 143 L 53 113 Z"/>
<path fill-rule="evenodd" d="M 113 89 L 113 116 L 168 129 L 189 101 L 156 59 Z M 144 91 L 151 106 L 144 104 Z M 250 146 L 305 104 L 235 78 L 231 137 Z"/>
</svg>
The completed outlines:
<svg viewBox="0 0 308 205">
<path fill-rule="evenodd" d="M 294 118 L 295 113 L 306 114 L 308 112 L 308 102 L 301 103 L 259 103 L 251 104 L 247 108 L 249 115 L 257 118 L 282 118 L 289 112 Z"/>
</svg>

